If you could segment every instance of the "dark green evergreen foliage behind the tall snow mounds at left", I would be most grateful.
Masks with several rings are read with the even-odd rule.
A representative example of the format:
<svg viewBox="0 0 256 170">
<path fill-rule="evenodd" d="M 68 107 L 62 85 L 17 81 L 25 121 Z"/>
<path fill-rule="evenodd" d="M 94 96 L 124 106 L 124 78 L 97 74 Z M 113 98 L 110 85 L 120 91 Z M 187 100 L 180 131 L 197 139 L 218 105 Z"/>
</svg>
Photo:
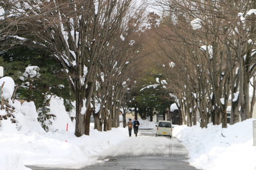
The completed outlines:
<svg viewBox="0 0 256 170">
<path fill-rule="evenodd" d="M 48 131 L 47 125 L 51 124 L 49 100 L 47 95 L 56 94 L 64 99 L 67 110 L 72 109 L 70 101 L 74 101 L 74 95 L 70 89 L 67 76 L 61 71 L 61 65 L 47 52 L 38 49 L 30 49 L 24 46 L 16 46 L 0 54 L 0 66 L 4 67 L 4 75 L 10 76 L 15 81 L 17 90 L 15 98 L 28 102 L 33 101 L 38 111 L 38 121 Z M 27 66 L 38 66 L 40 76 L 25 77 L 20 80 Z"/>
</svg>

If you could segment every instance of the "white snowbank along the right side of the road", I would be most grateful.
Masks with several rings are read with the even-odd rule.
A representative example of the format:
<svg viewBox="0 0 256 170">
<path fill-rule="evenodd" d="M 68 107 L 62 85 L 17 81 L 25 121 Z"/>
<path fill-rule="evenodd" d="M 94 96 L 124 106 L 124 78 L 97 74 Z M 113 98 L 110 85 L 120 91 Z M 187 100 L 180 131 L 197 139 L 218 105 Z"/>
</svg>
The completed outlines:
<svg viewBox="0 0 256 170">
<path fill-rule="evenodd" d="M 253 147 L 252 121 L 228 126 L 177 126 L 173 135 L 189 151 L 189 163 L 200 169 L 255 169 L 256 149 Z"/>
</svg>

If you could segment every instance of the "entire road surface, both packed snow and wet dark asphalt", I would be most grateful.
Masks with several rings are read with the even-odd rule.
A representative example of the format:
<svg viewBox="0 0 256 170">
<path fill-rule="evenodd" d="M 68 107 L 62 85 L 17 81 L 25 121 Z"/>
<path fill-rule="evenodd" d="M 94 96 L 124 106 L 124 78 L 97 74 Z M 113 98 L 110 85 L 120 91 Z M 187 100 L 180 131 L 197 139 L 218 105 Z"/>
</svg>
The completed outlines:
<svg viewBox="0 0 256 170">
<path fill-rule="evenodd" d="M 82 169 L 196 169 L 188 165 L 185 161 L 186 156 L 185 147 L 177 139 L 155 137 L 155 130 L 140 129 L 138 137 L 127 137 L 126 140 L 104 151 L 99 157 L 98 164 Z"/>
</svg>

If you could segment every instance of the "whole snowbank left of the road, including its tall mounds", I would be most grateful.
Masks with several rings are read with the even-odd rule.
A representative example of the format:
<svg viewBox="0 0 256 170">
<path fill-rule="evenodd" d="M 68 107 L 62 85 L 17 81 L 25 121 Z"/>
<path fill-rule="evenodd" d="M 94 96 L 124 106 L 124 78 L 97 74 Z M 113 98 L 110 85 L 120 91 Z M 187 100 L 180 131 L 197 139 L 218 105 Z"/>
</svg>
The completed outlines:
<svg viewBox="0 0 256 170">
<path fill-rule="evenodd" d="M 3 95 L 11 97 L 14 82 L 11 78 L 2 78 L 6 89 Z M 11 101 L 14 108 L 10 117 L 0 121 L 0 169 L 27 170 L 25 165 L 81 168 L 97 161 L 103 150 L 124 140 L 127 129 L 113 128 L 112 131 L 99 132 L 90 126 L 90 136 L 74 135 L 75 122 L 72 122 L 63 105 L 63 99 L 52 96 L 50 101 L 51 117 L 49 132 L 46 132 L 37 121 L 38 114 L 34 102 Z M 8 113 L 10 114 L 10 113 Z M 0 110 L 1 116 L 7 116 Z M 12 123 L 12 119 L 15 123 Z M 66 138 L 66 127 L 68 133 Z M 67 139 L 67 142 L 65 142 Z"/>
</svg>

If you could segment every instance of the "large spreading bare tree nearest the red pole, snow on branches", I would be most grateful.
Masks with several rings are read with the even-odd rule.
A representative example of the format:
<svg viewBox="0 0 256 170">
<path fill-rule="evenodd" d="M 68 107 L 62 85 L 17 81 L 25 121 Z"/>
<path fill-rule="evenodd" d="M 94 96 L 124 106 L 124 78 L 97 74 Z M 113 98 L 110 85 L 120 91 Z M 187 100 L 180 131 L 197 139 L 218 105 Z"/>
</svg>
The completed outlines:
<svg viewBox="0 0 256 170">
<path fill-rule="evenodd" d="M 13 1 L 11 6 L 4 3 L 6 18 L 12 18 L 15 26 L 7 38 L 15 36 L 24 44 L 31 42 L 31 46 L 48 50 L 63 66 L 76 95 L 76 136 L 89 135 L 98 60 L 121 26 L 131 2 Z"/>
</svg>

